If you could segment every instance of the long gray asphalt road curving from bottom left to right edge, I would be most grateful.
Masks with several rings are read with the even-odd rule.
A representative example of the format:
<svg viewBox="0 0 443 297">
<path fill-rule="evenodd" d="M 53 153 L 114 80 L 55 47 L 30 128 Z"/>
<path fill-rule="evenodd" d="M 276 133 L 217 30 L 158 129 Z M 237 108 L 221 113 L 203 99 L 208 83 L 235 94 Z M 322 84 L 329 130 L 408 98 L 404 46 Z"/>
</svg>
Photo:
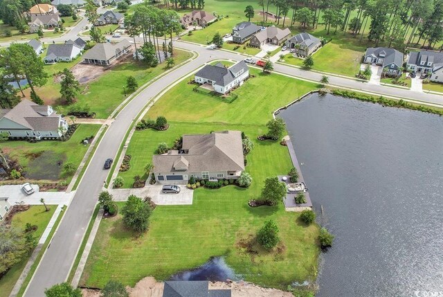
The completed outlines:
<svg viewBox="0 0 443 297">
<path fill-rule="evenodd" d="M 80 28 L 80 27 L 79 27 Z M 64 36 L 66 38 L 66 36 Z M 68 37 L 66 39 L 69 39 Z M 94 154 L 87 170 L 84 172 L 82 181 L 80 182 L 73 201 L 66 210 L 64 218 L 55 233 L 51 245 L 48 247 L 44 258 L 41 260 L 37 271 L 31 280 L 28 289 L 26 290 L 26 297 L 30 296 L 44 296 L 44 289 L 51 287 L 60 282 L 64 282 L 71 270 L 71 265 L 78 252 L 78 248 L 82 242 L 82 237 L 91 219 L 93 209 L 97 202 L 97 197 L 102 190 L 103 183 L 109 173 L 103 170 L 103 162 L 109 157 L 117 154 L 120 143 L 123 141 L 127 129 L 131 123 L 136 120 L 137 114 L 145 107 L 146 103 L 161 93 L 163 89 L 175 82 L 178 78 L 188 74 L 204 63 L 215 59 L 227 60 L 242 60 L 244 56 L 230 53 L 226 51 L 214 51 L 207 49 L 204 46 L 196 44 L 188 44 L 184 42 L 175 42 L 176 47 L 196 51 L 199 57 L 192 60 L 174 71 L 163 76 L 156 82 L 153 82 L 146 89 L 141 91 L 127 106 L 120 111 L 116 120 L 107 129 L 105 136 L 97 147 L 96 154 Z M 275 64 L 275 71 L 286 73 L 288 75 L 295 75 L 307 80 L 318 82 L 321 74 L 311 71 L 302 71 L 290 66 Z M 382 93 L 388 96 L 396 96 L 409 98 L 411 100 L 422 100 L 431 102 L 435 105 L 443 105 L 443 96 L 432 94 L 419 93 L 404 89 L 396 89 L 392 87 L 383 87 L 374 84 L 357 82 L 346 78 L 338 78 L 331 76 L 329 78 L 330 84 L 338 85 L 350 89 L 360 89 L 363 91 L 370 91 L 375 93 Z M 294 81 L 296 83 L 296 81 Z"/>
</svg>

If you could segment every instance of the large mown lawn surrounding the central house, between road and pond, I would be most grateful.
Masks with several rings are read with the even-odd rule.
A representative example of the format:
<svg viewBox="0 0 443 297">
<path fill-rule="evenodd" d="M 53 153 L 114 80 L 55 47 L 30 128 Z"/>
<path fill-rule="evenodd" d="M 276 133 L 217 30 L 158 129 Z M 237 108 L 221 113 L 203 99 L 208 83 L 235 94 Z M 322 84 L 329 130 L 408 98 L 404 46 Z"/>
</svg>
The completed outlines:
<svg viewBox="0 0 443 297">
<path fill-rule="evenodd" d="M 315 278 L 318 227 L 300 224 L 299 214 L 284 211 L 282 205 L 249 208 L 247 201 L 260 195 L 266 177 L 291 168 L 287 147 L 255 137 L 265 132 L 271 111 L 315 89 L 316 84 L 276 74 L 265 76 L 255 69 L 251 74 L 256 77 L 235 90 L 239 98 L 232 103 L 192 92 L 193 86 L 187 81 L 165 93 L 147 117 L 165 115 L 170 128 L 164 132 L 136 131 L 127 150 L 132 154 L 132 168 L 120 176 L 125 186 L 130 186 L 134 175 L 143 175 L 144 165 L 152 161 L 156 146 L 163 141 L 171 145 L 182 134 L 239 129 L 255 144 L 246 165 L 253 177 L 252 186 L 199 188 L 192 206 L 157 206 L 150 230 L 141 237 L 126 231 L 119 216 L 102 220 L 80 285 L 102 287 L 107 280 L 118 279 L 133 286 L 145 276 L 165 280 L 177 271 L 198 267 L 214 255 L 224 255 L 236 273 L 264 286 L 285 289 L 293 281 Z M 275 96 L 275 89 L 281 90 L 279 96 Z M 180 109 L 171 109 L 177 102 Z M 284 248 L 280 253 L 267 253 L 254 245 L 257 255 L 251 255 L 239 242 L 253 236 L 266 219 L 278 223 Z"/>
</svg>

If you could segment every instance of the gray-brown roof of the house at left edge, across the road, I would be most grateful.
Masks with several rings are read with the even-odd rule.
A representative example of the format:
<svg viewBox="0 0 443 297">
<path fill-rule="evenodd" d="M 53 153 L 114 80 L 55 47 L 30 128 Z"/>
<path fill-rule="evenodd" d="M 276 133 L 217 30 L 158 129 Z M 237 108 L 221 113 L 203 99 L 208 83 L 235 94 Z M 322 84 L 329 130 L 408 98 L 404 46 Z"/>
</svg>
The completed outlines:
<svg viewBox="0 0 443 297">
<path fill-rule="evenodd" d="M 30 100 L 21 100 L 18 105 L 3 114 L 1 118 L 7 118 L 23 126 L 24 129 L 28 128 L 36 131 L 56 131 L 60 123 L 60 116 L 55 111 L 49 114 L 47 105 L 37 105 Z M 6 126 L 0 126 L 0 129 L 7 128 Z"/>
</svg>

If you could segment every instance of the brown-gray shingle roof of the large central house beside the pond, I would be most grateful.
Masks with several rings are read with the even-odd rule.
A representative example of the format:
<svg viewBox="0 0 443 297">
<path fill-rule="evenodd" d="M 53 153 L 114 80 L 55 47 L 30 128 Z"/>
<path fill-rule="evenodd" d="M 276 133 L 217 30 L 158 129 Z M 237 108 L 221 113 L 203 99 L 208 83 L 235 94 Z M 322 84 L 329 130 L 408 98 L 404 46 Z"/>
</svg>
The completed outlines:
<svg viewBox="0 0 443 297">
<path fill-rule="evenodd" d="M 188 154 L 174 151 L 153 156 L 155 172 L 184 170 L 174 168 L 183 159 L 188 172 L 244 170 L 242 133 L 239 131 L 183 135 L 182 149 L 188 150 Z"/>
</svg>

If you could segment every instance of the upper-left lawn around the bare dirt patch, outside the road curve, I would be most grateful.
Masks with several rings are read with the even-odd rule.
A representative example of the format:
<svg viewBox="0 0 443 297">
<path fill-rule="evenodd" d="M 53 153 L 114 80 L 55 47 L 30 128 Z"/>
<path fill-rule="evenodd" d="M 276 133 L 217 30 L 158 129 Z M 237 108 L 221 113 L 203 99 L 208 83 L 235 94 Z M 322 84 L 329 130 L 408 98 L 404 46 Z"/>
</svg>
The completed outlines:
<svg viewBox="0 0 443 297">
<path fill-rule="evenodd" d="M 192 56 L 192 54 L 187 51 L 180 51 L 178 49 L 174 51 L 176 64 L 180 64 Z M 48 82 L 43 87 L 37 87 L 36 91 L 46 104 L 62 107 L 61 110 L 64 111 L 64 105 L 62 105 L 62 102 L 59 100 L 60 83 L 55 82 L 52 75 L 62 71 L 64 68 L 71 68 L 80 61 L 81 57 L 78 57 L 73 62 L 45 66 L 45 70 L 49 74 Z M 145 65 L 133 60 L 123 62 L 106 71 L 98 79 L 87 84 L 82 84 L 81 87 L 83 91 L 78 95 L 77 102 L 80 105 L 89 105 L 91 112 L 96 112 L 97 118 L 107 118 L 125 99 L 123 87 L 125 87 L 126 78 L 129 75 L 134 76 L 138 82 L 138 86 L 141 87 L 166 70 L 168 69 L 165 63 L 159 64 L 154 68 L 147 68 Z M 28 95 L 29 90 L 26 91 L 25 94 Z"/>
</svg>

